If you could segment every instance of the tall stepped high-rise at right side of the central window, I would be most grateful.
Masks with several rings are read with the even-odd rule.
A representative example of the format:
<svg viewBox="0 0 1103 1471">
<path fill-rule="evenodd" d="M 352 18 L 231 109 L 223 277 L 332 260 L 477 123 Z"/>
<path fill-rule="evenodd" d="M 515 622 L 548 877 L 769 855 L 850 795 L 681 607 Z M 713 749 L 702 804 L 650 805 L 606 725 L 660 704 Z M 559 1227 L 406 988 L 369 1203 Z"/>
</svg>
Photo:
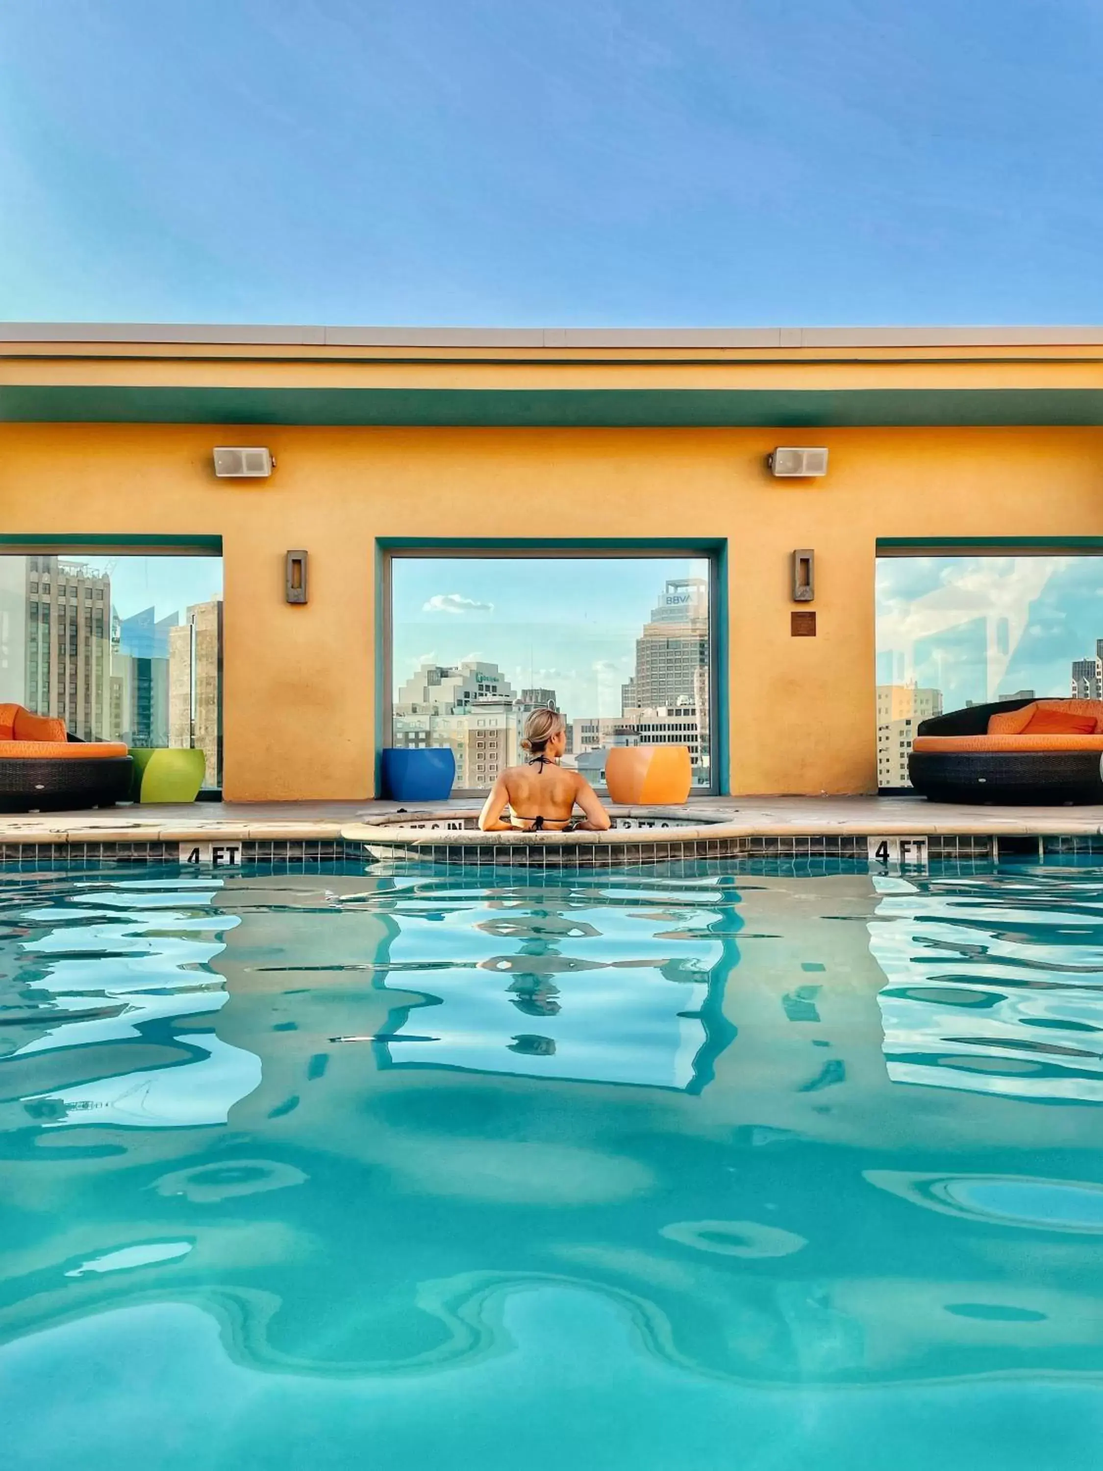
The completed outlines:
<svg viewBox="0 0 1103 1471">
<path fill-rule="evenodd" d="M 694 700 L 699 669 L 709 668 L 709 583 L 669 578 L 643 634 L 635 640 L 635 672 L 622 685 L 621 710 L 669 709 Z"/>
</svg>

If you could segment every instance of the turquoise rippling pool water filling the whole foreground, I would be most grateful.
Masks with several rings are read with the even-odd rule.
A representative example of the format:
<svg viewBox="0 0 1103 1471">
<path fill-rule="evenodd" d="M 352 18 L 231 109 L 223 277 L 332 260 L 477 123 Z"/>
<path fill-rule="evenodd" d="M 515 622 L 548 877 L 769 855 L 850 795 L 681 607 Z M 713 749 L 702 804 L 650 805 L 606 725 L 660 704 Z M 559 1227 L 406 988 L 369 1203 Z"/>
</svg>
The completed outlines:
<svg viewBox="0 0 1103 1471">
<path fill-rule="evenodd" d="M 1099 868 L 0 924 L 6 1471 L 1099 1462 Z"/>
</svg>

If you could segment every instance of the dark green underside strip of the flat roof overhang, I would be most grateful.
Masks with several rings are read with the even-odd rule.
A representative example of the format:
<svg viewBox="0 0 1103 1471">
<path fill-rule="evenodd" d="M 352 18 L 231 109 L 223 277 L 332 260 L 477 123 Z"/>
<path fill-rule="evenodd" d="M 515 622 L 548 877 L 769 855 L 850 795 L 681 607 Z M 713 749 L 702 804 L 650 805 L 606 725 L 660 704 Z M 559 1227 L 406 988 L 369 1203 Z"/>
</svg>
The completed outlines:
<svg viewBox="0 0 1103 1471">
<path fill-rule="evenodd" d="M 504 428 L 1103 425 L 1103 388 L 279 388 L 0 384 L 9 424 Z"/>
</svg>

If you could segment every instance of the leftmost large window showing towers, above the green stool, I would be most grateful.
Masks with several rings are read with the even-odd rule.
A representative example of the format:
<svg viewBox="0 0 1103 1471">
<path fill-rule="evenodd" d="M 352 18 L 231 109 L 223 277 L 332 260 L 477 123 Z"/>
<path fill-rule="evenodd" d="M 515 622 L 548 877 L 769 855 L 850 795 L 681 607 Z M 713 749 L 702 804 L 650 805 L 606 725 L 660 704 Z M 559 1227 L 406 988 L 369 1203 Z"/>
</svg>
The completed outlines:
<svg viewBox="0 0 1103 1471">
<path fill-rule="evenodd" d="M 81 740 L 194 746 L 222 780 L 222 559 L 0 555 L 0 702 Z"/>
</svg>

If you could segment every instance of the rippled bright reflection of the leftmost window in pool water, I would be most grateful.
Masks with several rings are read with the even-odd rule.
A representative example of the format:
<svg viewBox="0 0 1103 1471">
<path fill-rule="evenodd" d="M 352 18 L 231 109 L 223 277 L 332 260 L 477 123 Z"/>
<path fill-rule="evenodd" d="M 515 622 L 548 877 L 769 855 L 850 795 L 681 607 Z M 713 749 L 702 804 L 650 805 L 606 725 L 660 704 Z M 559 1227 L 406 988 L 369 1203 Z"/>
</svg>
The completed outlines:
<svg viewBox="0 0 1103 1471">
<path fill-rule="evenodd" d="M 215 1033 L 228 1000 L 210 962 L 237 924 L 219 881 L 10 881 L 0 1056 L 44 1128 L 225 1124 L 260 1059 Z"/>
</svg>

